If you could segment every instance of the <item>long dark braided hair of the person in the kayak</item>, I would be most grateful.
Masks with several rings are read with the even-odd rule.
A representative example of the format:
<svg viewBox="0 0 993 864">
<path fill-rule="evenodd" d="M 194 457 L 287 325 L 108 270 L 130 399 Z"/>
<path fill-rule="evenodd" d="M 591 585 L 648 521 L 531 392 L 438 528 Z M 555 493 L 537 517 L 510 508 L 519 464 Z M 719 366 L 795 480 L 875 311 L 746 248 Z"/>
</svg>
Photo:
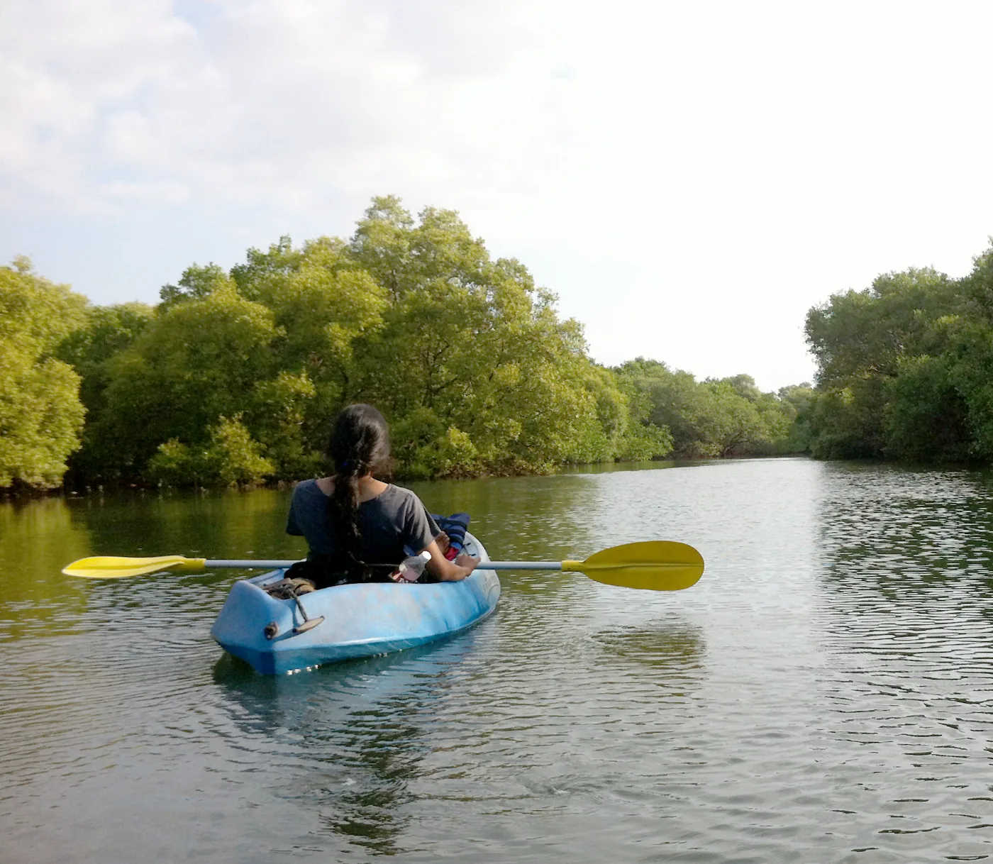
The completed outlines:
<svg viewBox="0 0 993 864">
<path fill-rule="evenodd" d="M 371 405 L 349 405 L 335 420 L 328 452 L 335 463 L 335 492 L 328 504 L 331 529 L 349 569 L 361 568 L 358 479 L 388 468 L 386 420 Z"/>
</svg>

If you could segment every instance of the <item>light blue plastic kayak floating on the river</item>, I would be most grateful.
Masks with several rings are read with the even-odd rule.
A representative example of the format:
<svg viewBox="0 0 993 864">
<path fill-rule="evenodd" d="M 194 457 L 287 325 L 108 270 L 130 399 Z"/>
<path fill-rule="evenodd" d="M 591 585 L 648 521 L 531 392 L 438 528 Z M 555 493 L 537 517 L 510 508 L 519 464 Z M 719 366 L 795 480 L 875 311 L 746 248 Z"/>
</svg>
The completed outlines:
<svg viewBox="0 0 993 864">
<path fill-rule="evenodd" d="M 465 548 L 490 560 L 470 533 Z M 485 563 L 461 582 L 367 582 L 278 599 L 265 589 L 284 574 L 235 582 L 211 629 L 221 648 L 267 674 L 425 645 L 472 627 L 499 600 L 497 571 Z"/>
</svg>

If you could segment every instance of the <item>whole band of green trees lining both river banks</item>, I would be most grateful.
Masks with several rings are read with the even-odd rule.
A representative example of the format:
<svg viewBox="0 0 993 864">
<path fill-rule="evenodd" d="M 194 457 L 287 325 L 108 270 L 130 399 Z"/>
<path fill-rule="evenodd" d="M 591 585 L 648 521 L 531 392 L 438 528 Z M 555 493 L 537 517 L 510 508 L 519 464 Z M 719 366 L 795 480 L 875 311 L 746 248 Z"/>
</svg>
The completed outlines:
<svg viewBox="0 0 993 864">
<path fill-rule="evenodd" d="M 880 276 L 811 309 L 817 385 L 764 393 L 660 360 L 607 367 L 526 267 L 453 211 L 376 198 L 349 240 L 194 264 L 155 305 L 94 306 L 0 267 L 0 491 L 275 485 L 376 405 L 401 480 L 811 454 L 993 455 L 993 250 L 960 280 Z"/>
</svg>

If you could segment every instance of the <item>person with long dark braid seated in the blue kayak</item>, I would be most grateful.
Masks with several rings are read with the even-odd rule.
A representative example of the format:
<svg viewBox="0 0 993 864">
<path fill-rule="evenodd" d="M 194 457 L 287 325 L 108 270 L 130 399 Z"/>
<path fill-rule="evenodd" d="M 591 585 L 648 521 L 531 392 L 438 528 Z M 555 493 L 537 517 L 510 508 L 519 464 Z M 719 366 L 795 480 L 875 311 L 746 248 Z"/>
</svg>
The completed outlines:
<svg viewBox="0 0 993 864">
<path fill-rule="evenodd" d="M 309 547 L 300 576 L 319 588 L 380 581 L 404 558 L 427 551 L 428 574 L 455 582 L 480 563 L 466 553 L 448 560 L 439 545 L 444 534 L 421 500 L 375 479 L 388 467 L 389 427 L 374 407 L 350 405 L 338 415 L 329 455 L 335 473 L 293 491 L 286 531 L 305 537 Z"/>
</svg>

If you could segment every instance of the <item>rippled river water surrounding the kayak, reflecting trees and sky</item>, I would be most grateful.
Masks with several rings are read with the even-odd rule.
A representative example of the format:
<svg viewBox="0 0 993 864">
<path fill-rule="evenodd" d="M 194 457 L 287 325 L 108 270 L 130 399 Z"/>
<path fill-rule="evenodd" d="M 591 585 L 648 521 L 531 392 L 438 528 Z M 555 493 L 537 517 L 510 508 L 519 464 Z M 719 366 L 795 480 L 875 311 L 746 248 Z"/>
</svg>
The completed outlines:
<svg viewBox="0 0 993 864">
<path fill-rule="evenodd" d="M 0 504 L 0 861 L 993 858 L 993 478 L 756 460 L 415 485 L 499 560 L 644 539 L 681 592 L 503 572 L 442 644 L 267 677 L 210 639 L 288 491 Z"/>
</svg>

